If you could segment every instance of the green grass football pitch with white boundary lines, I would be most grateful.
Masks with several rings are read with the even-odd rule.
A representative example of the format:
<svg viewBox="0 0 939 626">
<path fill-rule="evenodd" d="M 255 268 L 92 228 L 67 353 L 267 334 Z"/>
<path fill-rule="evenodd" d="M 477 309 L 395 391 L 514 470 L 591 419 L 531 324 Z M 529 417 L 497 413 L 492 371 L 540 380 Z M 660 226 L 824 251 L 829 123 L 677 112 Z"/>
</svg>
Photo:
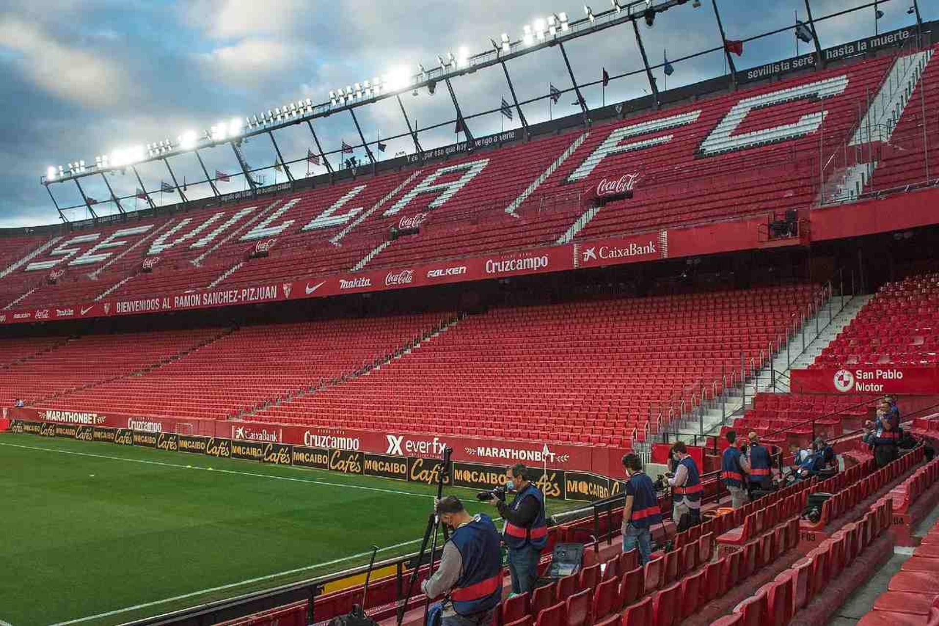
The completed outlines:
<svg viewBox="0 0 939 626">
<path fill-rule="evenodd" d="M 415 552 L 435 489 L 5 433 L 0 493 L 0 621 L 25 626 L 159 615 L 346 570 L 373 544 Z"/>
</svg>

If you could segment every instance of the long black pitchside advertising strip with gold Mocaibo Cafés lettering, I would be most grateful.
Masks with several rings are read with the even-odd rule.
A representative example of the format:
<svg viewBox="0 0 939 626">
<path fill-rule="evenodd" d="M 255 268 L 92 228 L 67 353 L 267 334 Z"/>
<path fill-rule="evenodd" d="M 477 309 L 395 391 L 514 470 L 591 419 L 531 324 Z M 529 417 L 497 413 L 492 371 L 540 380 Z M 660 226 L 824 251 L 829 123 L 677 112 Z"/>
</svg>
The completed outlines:
<svg viewBox="0 0 939 626">
<path fill-rule="evenodd" d="M 292 465 L 310 469 L 392 478 L 437 484 L 445 469 L 444 484 L 484 491 L 505 484 L 505 465 L 489 463 L 450 463 L 444 468 L 439 459 L 373 454 L 327 447 L 291 446 L 275 442 L 239 441 L 221 437 L 201 437 L 175 432 L 146 432 L 102 426 L 63 425 L 14 419 L 11 432 L 65 437 L 118 446 L 142 446 L 171 452 L 188 452 L 223 459 L 239 459 L 272 465 Z M 549 498 L 593 501 L 620 493 L 620 481 L 590 472 L 574 472 L 533 466 L 531 480 Z"/>
</svg>

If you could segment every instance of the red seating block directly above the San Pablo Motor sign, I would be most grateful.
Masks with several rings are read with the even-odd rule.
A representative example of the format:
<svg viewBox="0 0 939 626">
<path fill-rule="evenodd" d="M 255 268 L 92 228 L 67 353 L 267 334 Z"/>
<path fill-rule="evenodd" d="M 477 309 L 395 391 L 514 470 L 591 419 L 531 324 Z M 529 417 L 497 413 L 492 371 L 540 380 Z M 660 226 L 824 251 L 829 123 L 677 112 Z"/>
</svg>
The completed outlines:
<svg viewBox="0 0 939 626">
<path fill-rule="evenodd" d="M 811 367 L 939 365 L 939 274 L 887 283 Z"/>
</svg>

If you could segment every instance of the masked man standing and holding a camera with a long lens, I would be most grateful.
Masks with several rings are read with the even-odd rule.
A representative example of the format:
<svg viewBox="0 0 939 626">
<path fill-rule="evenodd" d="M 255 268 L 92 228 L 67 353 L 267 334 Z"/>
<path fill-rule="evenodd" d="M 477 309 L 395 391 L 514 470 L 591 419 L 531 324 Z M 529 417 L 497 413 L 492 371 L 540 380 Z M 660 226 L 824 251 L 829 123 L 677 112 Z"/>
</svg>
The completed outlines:
<svg viewBox="0 0 939 626">
<path fill-rule="evenodd" d="M 534 588 L 538 578 L 538 560 L 547 542 L 545 494 L 526 477 L 522 463 L 505 472 L 506 487 L 516 492 L 511 505 L 505 503 L 505 492 L 489 502 L 499 509 L 505 520 L 502 540 L 509 549 L 509 572 L 512 574 L 512 592 L 525 593 Z"/>
</svg>

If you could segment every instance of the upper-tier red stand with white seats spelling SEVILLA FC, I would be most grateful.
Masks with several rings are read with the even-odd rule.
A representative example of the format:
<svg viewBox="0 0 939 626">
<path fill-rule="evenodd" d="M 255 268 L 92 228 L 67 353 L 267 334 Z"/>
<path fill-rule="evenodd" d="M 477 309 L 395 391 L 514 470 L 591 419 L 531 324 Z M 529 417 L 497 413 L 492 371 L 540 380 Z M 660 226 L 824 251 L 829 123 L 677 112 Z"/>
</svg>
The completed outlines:
<svg viewBox="0 0 939 626">
<path fill-rule="evenodd" d="M 67 262 L 41 265 L 62 258 L 50 255 L 55 248 L 49 246 L 0 279 L 0 295 L 7 300 L 2 304 L 153 297 L 805 209 L 818 193 L 811 174 L 818 170 L 812 119 L 819 99 L 826 111 L 823 148 L 828 142 L 837 146 L 854 128 L 858 102 L 883 81 L 890 63 L 890 57 L 870 59 L 597 123 L 589 132 L 277 199 L 95 228 L 79 236 L 100 237 L 86 239 Z M 761 130 L 767 128 L 773 130 Z M 670 134 L 661 134 L 666 131 Z M 650 133 L 659 134 L 633 140 Z M 640 177 L 632 199 L 592 206 L 597 180 L 631 172 Z M 420 232 L 392 240 L 388 231 L 402 218 L 423 220 Z M 138 230 L 127 235 L 125 245 L 107 248 L 108 258 L 83 258 L 88 248 L 122 228 Z M 254 243 L 267 240 L 273 240 L 269 258 L 246 259 Z M 143 273 L 144 259 L 155 256 L 161 260 L 153 272 Z M 56 285 L 46 281 L 53 267 L 66 271 Z"/>
</svg>

